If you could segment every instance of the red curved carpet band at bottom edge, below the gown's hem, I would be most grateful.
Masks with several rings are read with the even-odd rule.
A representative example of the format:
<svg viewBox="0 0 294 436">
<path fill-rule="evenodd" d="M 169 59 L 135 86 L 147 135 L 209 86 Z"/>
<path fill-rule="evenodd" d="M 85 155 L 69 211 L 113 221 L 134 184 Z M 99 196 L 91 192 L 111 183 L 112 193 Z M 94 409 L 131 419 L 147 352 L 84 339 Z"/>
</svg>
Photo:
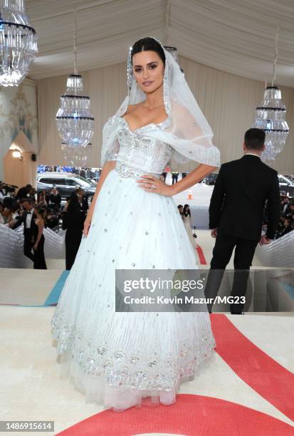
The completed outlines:
<svg viewBox="0 0 294 436">
<path fill-rule="evenodd" d="M 130 436 L 140 433 L 211 436 L 293 436 L 285 422 L 242 405 L 181 394 L 177 403 L 125 412 L 105 410 L 58 433 L 62 436 Z"/>
</svg>

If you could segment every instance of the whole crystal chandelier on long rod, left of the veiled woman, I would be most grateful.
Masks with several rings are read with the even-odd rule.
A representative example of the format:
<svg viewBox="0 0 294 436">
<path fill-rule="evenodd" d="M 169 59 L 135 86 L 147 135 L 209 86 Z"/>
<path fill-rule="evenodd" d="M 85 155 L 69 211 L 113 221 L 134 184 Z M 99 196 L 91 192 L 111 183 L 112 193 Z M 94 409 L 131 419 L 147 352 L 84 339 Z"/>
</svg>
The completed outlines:
<svg viewBox="0 0 294 436">
<path fill-rule="evenodd" d="M 76 11 L 75 11 L 76 14 Z M 61 108 L 56 114 L 58 133 L 66 150 L 73 155 L 85 154 L 94 133 L 94 118 L 90 112 L 90 97 L 83 94 L 83 78 L 76 66 L 76 20 L 74 19 L 74 74 L 67 79 L 65 94 L 61 95 Z M 65 148 L 65 147 L 63 147 Z"/>
</svg>

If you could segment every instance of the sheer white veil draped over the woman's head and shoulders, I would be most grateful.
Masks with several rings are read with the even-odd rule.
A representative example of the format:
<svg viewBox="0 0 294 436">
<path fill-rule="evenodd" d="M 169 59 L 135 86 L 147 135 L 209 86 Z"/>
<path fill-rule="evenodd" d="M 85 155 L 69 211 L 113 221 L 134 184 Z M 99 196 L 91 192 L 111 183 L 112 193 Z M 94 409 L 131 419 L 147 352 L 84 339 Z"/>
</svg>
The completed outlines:
<svg viewBox="0 0 294 436">
<path fill-rule="evenodd" d="M 162 43 L 153 38 L 162 46 Z M 191 93 L 184 74 L 173 56 L 164 49 L 165 66 L 163 77 L 163 99 L 167 113 L 164 122 L 147 125 L 143 131 L 145 136 L 154 137 L 166 142 L 174 149 L 172 159 L 179 163 L 194 160 L 199 163 L 219 167 L 220 152 L 212 143 L 213 133 L 204 114 L 201 112 L 194 95 Z M 127 58 L 127 96 L 114 117 L 110 118 L 103 128 L 103 147 L 101 165 L 104 165 L 108 154 L 115 154 L 116 134 L 120 118 L 127 112 L 128 105 L 145 101 L 145 93 L 137 87 L 132 72 L 132 48 Z M 142 129 L 141 129 L 142 132 Z"/>
</svg>

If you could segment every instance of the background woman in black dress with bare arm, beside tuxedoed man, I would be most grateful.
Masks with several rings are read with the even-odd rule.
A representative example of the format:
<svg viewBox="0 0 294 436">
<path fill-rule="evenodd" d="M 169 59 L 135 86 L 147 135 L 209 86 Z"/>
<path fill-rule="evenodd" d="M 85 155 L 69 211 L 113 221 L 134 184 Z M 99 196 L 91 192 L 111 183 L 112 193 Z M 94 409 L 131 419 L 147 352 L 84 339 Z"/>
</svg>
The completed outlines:
<svg viewBox="0 0 294 436">
<path fill-rule="evenodd" d="M 33 207 L 33 212 L 36 214 L 35 224 L 33 229 L 33 269 L 47 269 L 45 255 L 43 228 L 46 227 L 46 209 L 43 206 L 36 205 Z"/>
</svg>

